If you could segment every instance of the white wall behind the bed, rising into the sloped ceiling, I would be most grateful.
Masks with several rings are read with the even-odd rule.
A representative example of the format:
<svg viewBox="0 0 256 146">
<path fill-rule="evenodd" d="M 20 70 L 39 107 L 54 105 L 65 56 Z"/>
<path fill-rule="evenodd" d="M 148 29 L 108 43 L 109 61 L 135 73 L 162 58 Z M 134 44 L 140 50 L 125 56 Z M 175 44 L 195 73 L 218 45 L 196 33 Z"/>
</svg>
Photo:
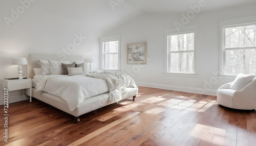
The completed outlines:
<svg viewBox="0 0 256 146">
<path fill-rule="evenodd" d="M 12 57 L 27 58 L 30 53 L 63 54 L 62 48 L 73 44 L 76 35 L 83 39 L 76 40 L 80 44 L 68 54 L 93 58 L 92 69 L 98 69 L 98 38 L 102 32 L 139 13 L 140 10 L 125 4 L 113 9 L 109 1 L 102 0 L 0 0 L 0 79 L 16 77 L 17 66 L 11 65 Z M 26 65 L 23 75 L 27 76 Z M 3 97 L 2 80 L 0 87 Z M 10 101 L 23 99 L 20 93 L 11 91 Z"/>
</svg>

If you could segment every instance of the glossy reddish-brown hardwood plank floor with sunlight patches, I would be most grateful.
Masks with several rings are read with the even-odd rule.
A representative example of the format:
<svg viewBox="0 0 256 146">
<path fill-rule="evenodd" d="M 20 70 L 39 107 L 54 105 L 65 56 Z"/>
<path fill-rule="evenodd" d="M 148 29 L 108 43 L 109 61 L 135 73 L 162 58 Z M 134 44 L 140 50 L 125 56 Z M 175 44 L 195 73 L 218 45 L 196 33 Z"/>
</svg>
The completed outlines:
<svg viewBox="0 0 256 146">
<path fill-rule="evenodd" d="M 4 107 L 0 106 L 4 113 Z M 132 98 L 74 117 L 33 99 L 9 105 L 0 145 L 256 145 L 256 111 L 216 96 L 139 87 Z M 2 114 L 3 115 L 3 114 Z"/>
</svg>

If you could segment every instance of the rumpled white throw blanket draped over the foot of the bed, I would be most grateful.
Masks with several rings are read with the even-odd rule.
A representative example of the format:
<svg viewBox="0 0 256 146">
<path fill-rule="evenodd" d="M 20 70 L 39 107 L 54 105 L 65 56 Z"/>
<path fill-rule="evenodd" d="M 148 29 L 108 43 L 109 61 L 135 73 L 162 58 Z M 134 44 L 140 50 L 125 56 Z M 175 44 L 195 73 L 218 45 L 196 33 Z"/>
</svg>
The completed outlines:
<svg viewBox="0 0 256 146">
<path fill-rule="evenodd" d="M 109 86 L 110 102 L 120 101 L 122 99 L 122 93 L 127 92 L 125 87 L 137 87 L 129 75 L 117 72 L 88 72 L 86 76 L 106 80 Z"/>
</svg>

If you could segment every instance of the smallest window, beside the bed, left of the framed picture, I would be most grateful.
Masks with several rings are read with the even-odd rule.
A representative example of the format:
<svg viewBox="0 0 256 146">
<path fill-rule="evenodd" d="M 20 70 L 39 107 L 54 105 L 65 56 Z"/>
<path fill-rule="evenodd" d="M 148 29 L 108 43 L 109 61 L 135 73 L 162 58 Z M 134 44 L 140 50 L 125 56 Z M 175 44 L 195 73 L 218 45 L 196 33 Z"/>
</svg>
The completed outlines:
<svg viewBox="0 0 256 146">
<path fill-rule="evenodd" d="M 120 35 L 100 38 L 100 68 L 120 69 Z"/>
</svg>

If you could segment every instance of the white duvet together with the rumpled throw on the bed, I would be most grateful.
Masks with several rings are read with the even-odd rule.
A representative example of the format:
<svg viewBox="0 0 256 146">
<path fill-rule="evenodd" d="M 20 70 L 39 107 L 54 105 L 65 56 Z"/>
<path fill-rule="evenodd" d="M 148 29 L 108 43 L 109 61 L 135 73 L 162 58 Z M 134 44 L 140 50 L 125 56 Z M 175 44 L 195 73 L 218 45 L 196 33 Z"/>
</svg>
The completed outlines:
<svg viewBox="0 0 256 146">
<path fill-rule="evenodd" d="M 109 101 L 118 102 L 121 93 L 126 92 L 125 87 L 137 87 L 130 76 L 105 71 L 76 76 L 40 75 L 33 80 L 36 90 L 61 97 L 71 111 L 83 100 L 105 92 L 110 92 Z"/>
</svg>

